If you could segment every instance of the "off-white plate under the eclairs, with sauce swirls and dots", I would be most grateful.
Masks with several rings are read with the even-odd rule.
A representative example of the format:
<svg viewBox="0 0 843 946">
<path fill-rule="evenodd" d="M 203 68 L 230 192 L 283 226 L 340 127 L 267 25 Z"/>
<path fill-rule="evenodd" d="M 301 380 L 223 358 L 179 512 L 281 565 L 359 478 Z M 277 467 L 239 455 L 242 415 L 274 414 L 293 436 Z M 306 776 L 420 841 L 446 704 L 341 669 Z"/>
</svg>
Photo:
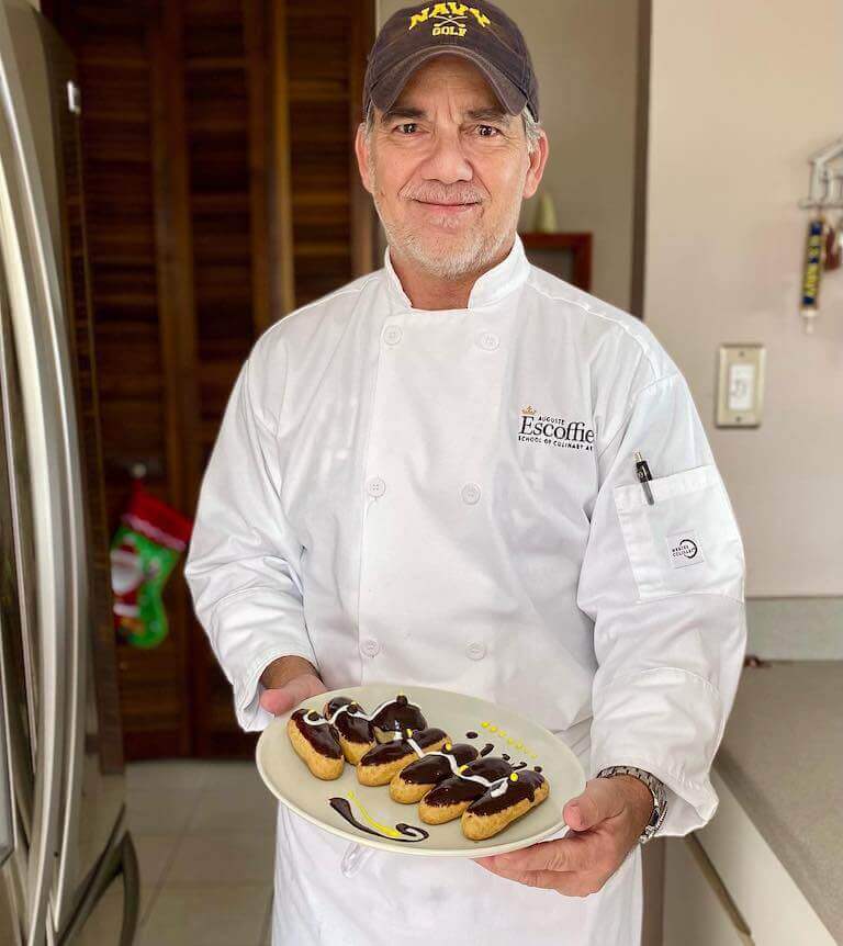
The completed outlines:
<svg viewBox="0 0 843 946">
<path fill-rule="evenodd" d="M 371 712 L 397 694 L 404 694 L 411 702 L 418 703 L 428 727 L 445 730 L 452 743 L 474 745 L 477 752 L 486 743 L 492 743 L 494 748 L 488 755 L 507 753 L 513 765 L 525 762 L 530 769 L 541 766 L 541 774 L 550 782 L 548 798 L 494 837 L 470 841 L 462 833 L 459 818 L 448 824 L 425 824 L 418 818 L 417 804 L 393 801 L 387 785 L 360 785 L 356 767 L 348 762 L 339 778 L 330 781 L 316 778 L 296 755 L 286 734 L 286 723 L 294 710 L 276 717 L 258 740 L 255 755 L 267 787 L 288 808 L 319 827 L 358 844 L 401 854 L 485 857 L 527 847 L 565 826 L 562 809 L 585 788 L 583 767 L 553 733 L 514 710 L 449 690 L 396 684 L 346 687 L 311 697 L 300 707 L 321 712 L 333 697 L 346 696 L 358 701 L 366 712 Z M 476 739 L 468 737 L 469 732 L 475 732 Z M 395 837 L 404 840 L 376 836 L 356 827 L 331 808 L 331 798 L 346 799 L 355 819 L 361 824 L 372 830 L 391 831 Z M 373 826 L 372 822 L 381 829 Z M 412 836 L 397 832 L 395 826 L 398 823 L 422 829 L 428 837 L 418 840 L 415 831 Z"/>
</svg>

